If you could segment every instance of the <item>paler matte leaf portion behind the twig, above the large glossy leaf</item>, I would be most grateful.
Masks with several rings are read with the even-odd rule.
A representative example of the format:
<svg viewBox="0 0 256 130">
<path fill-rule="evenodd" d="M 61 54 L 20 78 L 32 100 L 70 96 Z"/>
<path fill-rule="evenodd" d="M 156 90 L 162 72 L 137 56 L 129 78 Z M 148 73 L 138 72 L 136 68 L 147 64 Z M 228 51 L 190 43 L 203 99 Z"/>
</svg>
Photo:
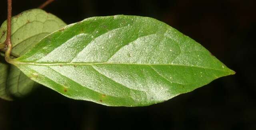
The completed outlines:
<svg viewBox="0 0 256 130">
<path fill-rule="evenodd" d="M 40 9 L 26 10 L 12 17 L 12 54 L 20 57 L 40 39 L 66 26 L 60 18 Z M 6 40 L 7 21 L 0 27 L 0 44 Z"/>
</svg>

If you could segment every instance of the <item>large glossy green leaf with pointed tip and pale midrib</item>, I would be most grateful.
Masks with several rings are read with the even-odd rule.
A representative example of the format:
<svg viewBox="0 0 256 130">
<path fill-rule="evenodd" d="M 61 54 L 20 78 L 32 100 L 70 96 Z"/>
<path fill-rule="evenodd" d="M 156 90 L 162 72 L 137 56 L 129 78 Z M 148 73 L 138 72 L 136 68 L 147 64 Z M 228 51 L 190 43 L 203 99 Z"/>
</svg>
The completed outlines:
<svg viewBox="0 0 256 130">
<path fill-rule="evenodd" d="M 12 63 L 66 97 L 108 106 L 163 102 L 234 74 L 167 24 L 122 15 L 68 25 Z"/>
</svg>

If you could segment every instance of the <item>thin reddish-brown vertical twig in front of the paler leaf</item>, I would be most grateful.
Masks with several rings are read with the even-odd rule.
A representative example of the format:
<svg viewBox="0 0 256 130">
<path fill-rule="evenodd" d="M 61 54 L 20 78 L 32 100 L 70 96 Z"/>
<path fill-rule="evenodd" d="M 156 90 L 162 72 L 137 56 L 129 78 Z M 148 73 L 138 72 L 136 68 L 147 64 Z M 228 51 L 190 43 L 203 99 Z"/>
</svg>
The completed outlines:
<svg viewBox="0 0 256 130">
<path fill-rule="evenodd" d="M 12 32 L 12 0 L 7 0 L 7 35 L 6 35 L 6 46 L 5 60 L 10 61 L 10 54 L 12 51 L 11 32 Z"/>
</svg>

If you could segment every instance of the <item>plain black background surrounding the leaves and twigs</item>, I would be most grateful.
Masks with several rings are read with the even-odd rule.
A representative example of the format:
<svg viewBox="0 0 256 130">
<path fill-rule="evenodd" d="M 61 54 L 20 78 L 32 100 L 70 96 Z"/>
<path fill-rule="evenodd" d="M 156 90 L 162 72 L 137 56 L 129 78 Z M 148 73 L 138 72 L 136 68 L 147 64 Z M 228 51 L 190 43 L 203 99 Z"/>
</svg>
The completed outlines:
<svg viewBox="0 0 256 130">
<path fill-rule="evenodd" d="M 256 130 L 255 0 L 56 0 L 45 8 L 71 24 L 92 16 L 148 16 L 206 47 L 236 75 L 146 107 L 72 100 L 46 87 L 0 99 L 0 130 Z M 44 0 L 13 0 L 13 15 Z M 0 22 L 6 20 L 0 0 Z"/>
</svg>

